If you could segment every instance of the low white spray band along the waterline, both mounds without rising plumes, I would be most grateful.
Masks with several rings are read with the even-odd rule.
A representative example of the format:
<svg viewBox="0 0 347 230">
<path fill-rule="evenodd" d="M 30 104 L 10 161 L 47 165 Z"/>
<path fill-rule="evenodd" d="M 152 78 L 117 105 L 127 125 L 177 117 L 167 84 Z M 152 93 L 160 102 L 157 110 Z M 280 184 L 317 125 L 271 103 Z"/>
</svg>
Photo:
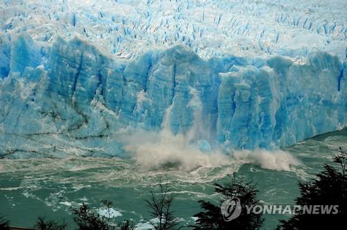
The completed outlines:
<svg viewBox="0 0 347 230">
<path fill-rule="evenodd" d="M 283 150 L 212 150 L 203 152 L 198 145 L 189 143 L 187 136 L 174 135 L 168 130 L 146 132 L 139 130 L 128 136 L 126 150 L 133 154 L 142 170 L 175 168 L 191 171 L 196 168 L 240 166 L 253 163 L 270 170 L 292 171 L 301 164 L 289 152 Z"/>
</svg>

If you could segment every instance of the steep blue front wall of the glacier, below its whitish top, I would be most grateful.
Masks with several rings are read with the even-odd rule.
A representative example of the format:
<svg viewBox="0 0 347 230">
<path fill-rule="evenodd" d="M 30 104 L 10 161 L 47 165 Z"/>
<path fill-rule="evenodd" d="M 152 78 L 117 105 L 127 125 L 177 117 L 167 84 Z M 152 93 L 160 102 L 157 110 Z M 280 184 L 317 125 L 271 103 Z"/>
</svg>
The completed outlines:
<svg viewBox="0 0 347 230">
<path fill-rule="evenodd" d="M 328 51 L 124 58 L 78 35 L 0 33 L 0 157 L 120 156 L 121 136 L 163 129 L 207 151 L 280 148 L 347 126 L 346 72 Z"/>
</svg>

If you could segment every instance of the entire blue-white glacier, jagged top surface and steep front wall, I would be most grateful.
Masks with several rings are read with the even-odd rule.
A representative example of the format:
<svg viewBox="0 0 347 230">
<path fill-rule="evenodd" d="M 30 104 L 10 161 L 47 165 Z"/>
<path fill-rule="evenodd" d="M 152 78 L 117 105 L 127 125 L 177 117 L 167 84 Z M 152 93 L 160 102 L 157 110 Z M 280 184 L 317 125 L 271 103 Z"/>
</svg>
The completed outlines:
<svg viewBox="0 0 347 230">
<path fill-rule="evenodd" d="M 124 156 L 122 136 L 137 130 L 169 130 L 202 152 L 341 130 L 346 8 L 3 0 L 0 157 Z"/>
</svg>

